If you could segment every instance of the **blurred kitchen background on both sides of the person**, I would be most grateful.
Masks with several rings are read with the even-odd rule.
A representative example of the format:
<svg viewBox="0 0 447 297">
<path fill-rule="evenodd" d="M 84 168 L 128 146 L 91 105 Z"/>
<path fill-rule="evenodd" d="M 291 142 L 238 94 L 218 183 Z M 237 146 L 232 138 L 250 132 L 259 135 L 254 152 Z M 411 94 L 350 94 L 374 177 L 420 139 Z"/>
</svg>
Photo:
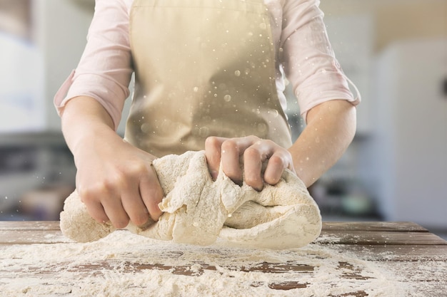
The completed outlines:
<svg viewBox="0 0 447 297">
<path fill-rule="evenodd" d="M 310 189 L 323 219 L 411 221 L 445 236 L 447 0 L 321 0 L 321 9 L 363 98 L 351 147 Z M 52 98 L 93 11 L 94 0 L 0 0 L 0 220 L 59 219 L 74 189 Z M 296 137 L 304 123 L 288 98 Z"/>
</svg>

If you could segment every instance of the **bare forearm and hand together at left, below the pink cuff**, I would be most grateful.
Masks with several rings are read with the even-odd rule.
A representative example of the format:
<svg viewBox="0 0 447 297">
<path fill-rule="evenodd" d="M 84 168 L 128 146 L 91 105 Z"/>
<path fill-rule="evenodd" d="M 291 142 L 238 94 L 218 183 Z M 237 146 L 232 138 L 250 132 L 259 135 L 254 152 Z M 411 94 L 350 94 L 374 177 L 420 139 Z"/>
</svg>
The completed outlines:
<svg viewBox="0 0 447 297">
<path fill-rule="evenodd" d="M 147 226 L 159 219 L 163 190 L 151 166 L 155 157 L 119 137 L 96 100 L 70 100 L 62 127 L 77 168 L 76 189 L 96 222 L 121 229 L 129 221 Z"/>
</svg>

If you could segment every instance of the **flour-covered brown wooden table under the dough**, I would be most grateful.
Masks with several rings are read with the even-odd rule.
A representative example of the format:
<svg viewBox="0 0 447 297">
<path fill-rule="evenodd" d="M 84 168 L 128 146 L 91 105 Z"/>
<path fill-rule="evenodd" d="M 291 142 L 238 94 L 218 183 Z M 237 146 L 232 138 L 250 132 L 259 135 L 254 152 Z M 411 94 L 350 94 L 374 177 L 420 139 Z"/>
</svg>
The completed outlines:
<svg viewBox="0 0 447 297">
<path fill-rule="evenodd" d="M 135 237 L 141 236 L 125 236 L 132 241 L 129 246 L 117 243 L 113 251 L 101 254 L 116 239 L 98 246 L 77 244 L 61 234 L 59 222 L 0 222 L 0 296 L 128 296 L 126 290 L 145 287 L 136 279 L 132 283 L 132 277 L 142 273 L 161 279 L 178 276 L 179 286 L 203 285 L 206 280 L 201 278 L 216 274 L 229 287 L 246 286 L 243 296 L 255 296 L 251 290 L 261 288 L 271 296 L 447 296 L 447 241 L 410 222 L 325 222 L 315 243 L 287 251 L 165 242 L 155 249 L 151 241 L 138 244 Z M 234 263 L 228 265 L 232 258 Z M 118 279 L 124 276 L 127 283 Z M 237 283 L 238 278 L 243 283 Z M 90 286 L 93 290 L 93 284 L 99 291 L 119 293 L 83 292 Z M 158 296 L 151 295 L 151 286 L 148 282 L 145 296 Z M 385 286 L 391 291 L 387 293 Z M 326 288 L 325 293 L 318 293 L 318 288 Z M 209 296 L 217 296 L 219 290 Z"/>
</svg>

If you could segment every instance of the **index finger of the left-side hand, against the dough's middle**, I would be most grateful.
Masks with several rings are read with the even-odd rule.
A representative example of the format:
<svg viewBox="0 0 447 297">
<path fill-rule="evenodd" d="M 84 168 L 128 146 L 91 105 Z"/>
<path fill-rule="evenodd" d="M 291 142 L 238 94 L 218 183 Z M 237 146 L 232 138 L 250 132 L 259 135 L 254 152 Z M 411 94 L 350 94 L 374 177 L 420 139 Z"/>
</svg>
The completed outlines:
<svg viewBox="0 0 447 297">
<path fill-rule="evenodd" d="M 140 180 L 140 194 L 146 209 L 149 211 L 151 219 L 158 220 L 162 212 L 159 207 L 161 199 L 163 199 L 163 189 L 152 165 L 148 168 L 148 173 Z"/>
</svg>

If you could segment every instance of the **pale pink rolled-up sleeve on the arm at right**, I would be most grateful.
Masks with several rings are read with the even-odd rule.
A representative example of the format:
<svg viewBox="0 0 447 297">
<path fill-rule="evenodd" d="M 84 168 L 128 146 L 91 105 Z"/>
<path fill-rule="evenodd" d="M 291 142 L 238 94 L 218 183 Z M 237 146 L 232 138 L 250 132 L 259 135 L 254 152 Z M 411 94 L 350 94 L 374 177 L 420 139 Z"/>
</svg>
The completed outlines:
<svg viewBox="0 0 447 297">
<path fill-rule="evenodd" d="M 279 58 L 298 98 L 301 115 L 328 100 L 360 102 L 348 88 L 348 78 L 328 41 L 318 0 L 286 0 Z"/>
</svg>

